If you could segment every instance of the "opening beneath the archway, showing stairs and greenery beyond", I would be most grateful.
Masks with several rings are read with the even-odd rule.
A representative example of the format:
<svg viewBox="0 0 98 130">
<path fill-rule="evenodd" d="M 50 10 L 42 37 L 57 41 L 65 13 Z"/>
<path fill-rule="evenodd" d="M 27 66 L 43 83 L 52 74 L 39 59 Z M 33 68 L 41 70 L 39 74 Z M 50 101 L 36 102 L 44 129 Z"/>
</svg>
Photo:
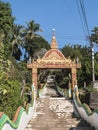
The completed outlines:
<svg viewBox="0 0 98 130">
<path fill-rule="evenodd" d="M 70 69 L 38 69 L 38 95 L 50 97 L 69 96 Z M 45 86 L 45 87 L 44 87 Z M 44 88 L 44 89 L 43 89 Z M 44 90 L 44 91 L 43 91 Z M 43 91 L 43 92 L 42 92 Z M 62 91 L 62 94 L 60 93 Z"/>
</svg>

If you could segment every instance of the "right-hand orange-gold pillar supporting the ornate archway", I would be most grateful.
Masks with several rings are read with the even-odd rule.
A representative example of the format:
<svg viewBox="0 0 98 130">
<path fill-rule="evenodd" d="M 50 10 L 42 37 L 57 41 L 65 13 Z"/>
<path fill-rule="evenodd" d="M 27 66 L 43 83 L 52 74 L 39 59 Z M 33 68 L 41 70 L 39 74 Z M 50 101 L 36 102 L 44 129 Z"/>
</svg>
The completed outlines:
<svg viewBox="0 0 98 130">
<path fill-rule="evenodd" d="M 72 75 L 72 90 L 73 90 L 74 86 L 77 85 L 77 69 L 75 67 L 71 69 L 71 75 Z"/>
</svg>

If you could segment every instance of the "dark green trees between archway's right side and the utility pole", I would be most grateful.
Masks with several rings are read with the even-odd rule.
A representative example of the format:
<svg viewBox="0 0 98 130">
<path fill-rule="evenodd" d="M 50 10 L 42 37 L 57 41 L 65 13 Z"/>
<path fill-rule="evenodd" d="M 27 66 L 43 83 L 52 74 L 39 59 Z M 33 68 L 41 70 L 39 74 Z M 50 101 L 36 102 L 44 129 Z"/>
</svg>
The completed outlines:
<svg viewBox="0 0 98 130">
<path fill-rule="evenodd" d="M 65 57 L 70 57 L 72 60 L 77 60 L 81 62 L 81 69 L 77 72 L 78 77 L 78 86 L 83 87 L 84 82 L 86 82 L 87 86 L 91 84 L 92 80 L 92 66 L 91 66 L 91 49 L 87 46 L 80 46 L 80 45 L 66 45 L 62 48 L 62 52 Z M 97 55 L 95 58 L 95 73 L 96 77 L 98 76 L 98 61 Z"/>
</svg>

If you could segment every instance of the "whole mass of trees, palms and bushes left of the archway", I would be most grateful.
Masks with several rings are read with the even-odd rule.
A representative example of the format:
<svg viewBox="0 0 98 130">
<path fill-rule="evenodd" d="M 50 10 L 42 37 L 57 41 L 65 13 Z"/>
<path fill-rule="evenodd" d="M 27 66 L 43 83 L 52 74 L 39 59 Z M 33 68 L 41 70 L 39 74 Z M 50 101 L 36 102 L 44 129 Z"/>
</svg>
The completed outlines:
<svg viewBox="0 0 98 130">
<path fill-rule="evenodd" d="M 42 31 L 34 20 L 27 26 L 16 25 L 9 3 L 0 1 L 0 111 L 13 118 L 18 106 L 30 102 L 31 70 L 29 58 L 37 57 L 48 42 L 36 32 Z M 36 52 L 36 54 L 34 54 Z"/>
</svg>

